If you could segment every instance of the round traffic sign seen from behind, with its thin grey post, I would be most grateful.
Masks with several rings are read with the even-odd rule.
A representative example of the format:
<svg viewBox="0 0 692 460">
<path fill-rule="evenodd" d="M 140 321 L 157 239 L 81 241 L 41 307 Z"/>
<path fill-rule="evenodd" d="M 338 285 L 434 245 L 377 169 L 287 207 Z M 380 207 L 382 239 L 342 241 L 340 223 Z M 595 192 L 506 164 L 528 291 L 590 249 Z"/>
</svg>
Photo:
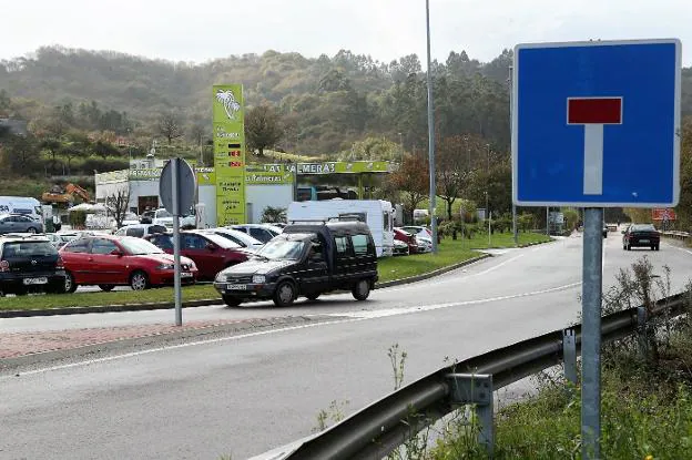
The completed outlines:
<svg viewBox="0 0 692 460">
<path fill-rule="evenodd" d="M 196 191 L 195 174 L 182 159 L 171 160 L 161 171 L 159 195 L 163 206 L 173 214 L 173 290 L 175 298 L 175 326 L 183 325 L 180 265 L 180 216 L 190 214 Z"/>
</svg>

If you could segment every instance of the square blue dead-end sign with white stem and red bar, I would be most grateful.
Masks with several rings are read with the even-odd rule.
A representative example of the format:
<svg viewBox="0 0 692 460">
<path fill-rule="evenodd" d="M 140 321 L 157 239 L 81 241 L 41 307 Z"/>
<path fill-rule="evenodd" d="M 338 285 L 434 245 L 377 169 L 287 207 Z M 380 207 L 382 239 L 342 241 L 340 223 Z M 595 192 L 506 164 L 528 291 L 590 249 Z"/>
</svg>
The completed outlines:
<svg viewBox="0 0 692 460">
<path fill-rule="evenodd" d="M 672 39 L 517 45 L 513 202 L 675 206 L 680 67 Z"/>
</svg>

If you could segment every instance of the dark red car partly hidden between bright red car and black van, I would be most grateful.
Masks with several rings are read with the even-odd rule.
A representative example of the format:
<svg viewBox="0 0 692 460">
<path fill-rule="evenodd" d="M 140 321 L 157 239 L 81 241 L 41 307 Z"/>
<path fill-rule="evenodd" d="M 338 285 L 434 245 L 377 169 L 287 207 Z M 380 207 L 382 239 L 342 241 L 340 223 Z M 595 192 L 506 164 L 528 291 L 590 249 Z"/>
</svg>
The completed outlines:
<svg viewBox="0 0 692 460">
<path fill-rule="evenodd" d="M 149 235 L 146 241 L 173 254 L 173 234 Z M 242 248 L 223 236 L 208 232 L 181 232 L 181 255 L 194 260 L 200 269 L 200 278 L 214 279 L 226 267 L 245 262 L 254 253 Z"/>
</svg>

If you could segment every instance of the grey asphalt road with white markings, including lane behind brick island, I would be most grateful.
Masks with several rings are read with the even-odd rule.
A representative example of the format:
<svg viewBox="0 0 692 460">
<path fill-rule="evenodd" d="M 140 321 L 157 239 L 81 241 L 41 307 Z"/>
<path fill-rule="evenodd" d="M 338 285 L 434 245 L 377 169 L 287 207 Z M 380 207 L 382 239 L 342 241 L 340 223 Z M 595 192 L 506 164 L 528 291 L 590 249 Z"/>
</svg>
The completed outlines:
<svg viewBox="0 0 692 460">
<path fill-rule="evenodd" d="M 325 297 L 184 310 L 184 318 L 333 315 L 334 321 L 218 338 L 0 376 L 0 458 L 234 459 L 311 433 L 333 400 L 349 413 L 393 389 L 387 349 L 408 354 L 405 381 L 445 358 L 464 359 L 578 320 L 581 238 L 499 252 L 445 276 L 376 290 L 370 300 Z M 606 239 L 604 285 L 640 256 L 668 265 L 673 290 L 692 253 L 623 252 Z M 0 333 L 172 321 L 172 311 L 0 320 Z M 10 396 L 11 397 L 7 397 Z"/>
</svg>

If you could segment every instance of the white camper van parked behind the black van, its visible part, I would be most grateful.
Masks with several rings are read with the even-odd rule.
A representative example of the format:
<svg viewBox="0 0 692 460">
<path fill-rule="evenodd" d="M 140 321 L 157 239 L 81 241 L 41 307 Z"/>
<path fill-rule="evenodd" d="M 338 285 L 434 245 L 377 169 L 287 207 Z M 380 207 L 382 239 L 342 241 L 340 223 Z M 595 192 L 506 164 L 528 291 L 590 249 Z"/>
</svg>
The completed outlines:
<svg viewBox="0 0 692 460">
<path fill-rule="evenodd" d="M 377 257 L 390 256 L 394 249 L 394 207 L 381 200 L 325 200 L 293 202 L 288 205 L 287 221 L 292 223 L 353 219 L 370 227 Z"/>
</svg>

